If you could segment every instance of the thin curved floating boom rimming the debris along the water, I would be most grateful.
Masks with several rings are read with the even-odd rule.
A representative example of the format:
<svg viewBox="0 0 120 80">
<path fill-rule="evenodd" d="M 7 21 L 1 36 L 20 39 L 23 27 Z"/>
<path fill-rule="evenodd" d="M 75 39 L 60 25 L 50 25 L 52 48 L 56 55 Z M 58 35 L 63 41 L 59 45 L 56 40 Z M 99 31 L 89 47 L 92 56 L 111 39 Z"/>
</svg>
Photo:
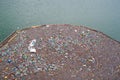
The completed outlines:
<svg viewBox="0 0 120 80">
<path fill-rule="evenodd" d="M 77 26 L 77 25 L 71 25 L 71 24 L 49 24 L 49 25 L 50 25 L 50 26 L 55 26 L 55 25 Z M 2 42 L 0 42 L 0 48 L 2 48 L 4 45 L 7 45 L 7 44 L 8 44 L 11 40 L 13 40 L 13 39 L 17 36 L 17 34 L 19 34 L 21 31 L 28 30 L 28 29 L 31 29 L 31 28 L 45 27 L 45 26 L 46 26 L 46 24 L 45 24 L 45 25 L 32 26 L 32 27 L 28 27 L 28 28 L 16 30 L 16 31 L 14 31 L 12 34 L 10 34 L 7 38 L 5 38 Z M 104 34 L 104 33 L 101 32 L 101 31 L 98 31 L 98 30 L 95 30 L 95 29 L 86 27 L 86 26 L 84 26 L 84 25 L 79 25 L 79 27 L 84 27 L 84 28 L 89 29 L 89 30 L 91 30 L 91 31 L 100 33 L 100 34 L 102 34 L 102 35 L 104 35 L 104 36 L 106 36 L 106 37 L 108 37 L 108 38 L 112 39 L 113 41 L 116 41 L 116 42 L 118 42 L 118 43 L 120 44 L 119 41 L 113 39 L 112 37 Z"/>
</svg>

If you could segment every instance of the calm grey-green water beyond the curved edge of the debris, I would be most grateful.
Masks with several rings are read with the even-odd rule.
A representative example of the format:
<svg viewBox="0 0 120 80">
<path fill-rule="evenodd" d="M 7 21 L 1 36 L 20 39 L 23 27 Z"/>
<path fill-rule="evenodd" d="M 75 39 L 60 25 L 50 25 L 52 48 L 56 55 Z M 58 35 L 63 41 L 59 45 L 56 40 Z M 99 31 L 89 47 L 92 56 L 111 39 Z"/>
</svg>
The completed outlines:
<svg viewBox="0 0 120 80">
<path fill-rule="evenodd" d="M 85 25 L 120 41 L 120 0 L 0 0 L 0 41 L 42 24 Z"/>
</svg>

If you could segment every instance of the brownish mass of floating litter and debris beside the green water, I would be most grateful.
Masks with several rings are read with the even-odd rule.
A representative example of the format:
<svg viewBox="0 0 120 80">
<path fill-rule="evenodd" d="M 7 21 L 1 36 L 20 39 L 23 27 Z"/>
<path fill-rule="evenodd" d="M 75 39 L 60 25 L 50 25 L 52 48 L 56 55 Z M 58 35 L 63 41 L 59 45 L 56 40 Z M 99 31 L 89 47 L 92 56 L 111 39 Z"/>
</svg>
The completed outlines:
<svg viewBox="0 0 120 80">
<path fill-rule="evenodd" d="M 120 80 L 120 42 L 84 26 L 23 29 L 0 46 L 0 80 Z"/>
</svg>

